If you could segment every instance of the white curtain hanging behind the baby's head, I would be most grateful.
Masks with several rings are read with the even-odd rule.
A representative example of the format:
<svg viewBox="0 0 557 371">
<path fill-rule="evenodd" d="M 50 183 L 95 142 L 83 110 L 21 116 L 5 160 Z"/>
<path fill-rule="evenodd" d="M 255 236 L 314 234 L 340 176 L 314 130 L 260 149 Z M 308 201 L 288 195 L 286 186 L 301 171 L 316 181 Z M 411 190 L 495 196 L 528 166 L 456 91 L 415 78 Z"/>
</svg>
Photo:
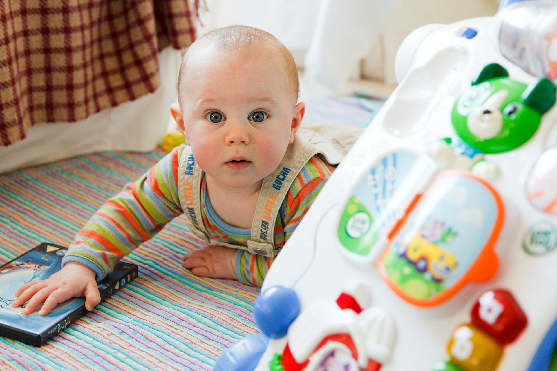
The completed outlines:
<svg viewBox="0 0 557 371">
<path fill-rule="evenodd" d="M 292 52 L 308 95 L 346 93 L 346 83 L 398 0 L 207 0 L 201 33 L 246 24 L 275 35 Z"/>
</svg>

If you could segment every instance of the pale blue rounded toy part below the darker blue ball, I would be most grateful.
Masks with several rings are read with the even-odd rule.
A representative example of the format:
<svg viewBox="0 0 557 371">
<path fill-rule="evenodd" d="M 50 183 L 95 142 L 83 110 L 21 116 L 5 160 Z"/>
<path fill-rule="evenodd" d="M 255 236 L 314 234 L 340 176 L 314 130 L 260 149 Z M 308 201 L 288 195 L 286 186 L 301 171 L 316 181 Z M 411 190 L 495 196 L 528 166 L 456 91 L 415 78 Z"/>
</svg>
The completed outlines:
<svg viewBox="0 0 557 371">
<path fill-rule="evenodd" d="M 238 340 L 221 355 L 213 371 L 253 371 L 267 349 L 269 338 L 263 334 Z"/>
</svg>

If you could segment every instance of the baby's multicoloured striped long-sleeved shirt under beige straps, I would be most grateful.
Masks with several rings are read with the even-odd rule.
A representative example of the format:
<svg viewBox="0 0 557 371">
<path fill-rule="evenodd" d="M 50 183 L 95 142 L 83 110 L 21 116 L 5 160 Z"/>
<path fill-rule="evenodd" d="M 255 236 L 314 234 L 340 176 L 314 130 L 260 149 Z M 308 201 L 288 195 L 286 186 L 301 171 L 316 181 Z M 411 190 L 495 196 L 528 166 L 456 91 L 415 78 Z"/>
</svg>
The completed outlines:
<svg viewBox="0 0 557 371">
<path fill-rule="evenodd" d="M 62 265 L 76 261 L 94 270 L 97 279 L 102 279 L 123 256 L 153 238 L 174 217 L 183 214 L 178 197 L 178 166 L 186 149 L 187 146 L 175 148 L 139 180 L 126 185 L 102 205 L 76 235 Z M 335 166 L 326 164 L 315 155 L 296 176 L 278 210 L 274 229 L 277 248 L 284 246 L 290 238 L 334 169 Z M 222 221 L 211 206 L 205 186 L 203 175 L 201 212 L 209 235 L 217 241 L 247 246 L 251 229 L 241 229 Z M 238 280 L 261 286 L 272 260 L 238 250 Z"/>
</svg>

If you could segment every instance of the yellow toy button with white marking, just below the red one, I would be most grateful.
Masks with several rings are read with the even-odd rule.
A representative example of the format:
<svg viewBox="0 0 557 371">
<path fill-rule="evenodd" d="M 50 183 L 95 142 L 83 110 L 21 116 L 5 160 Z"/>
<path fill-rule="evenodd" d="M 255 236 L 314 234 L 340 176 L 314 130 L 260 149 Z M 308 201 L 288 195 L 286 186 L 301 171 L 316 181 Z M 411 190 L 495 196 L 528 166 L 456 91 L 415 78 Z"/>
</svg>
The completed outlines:
<svg viewBox="0 0 557 371">
<path fill-rule="evenodd" d="M 499 343 L 471 324 L 455 330 L 447 350 L 451 362 L 463 371 L 494 371 L 503 355 Z"/>
</svg>

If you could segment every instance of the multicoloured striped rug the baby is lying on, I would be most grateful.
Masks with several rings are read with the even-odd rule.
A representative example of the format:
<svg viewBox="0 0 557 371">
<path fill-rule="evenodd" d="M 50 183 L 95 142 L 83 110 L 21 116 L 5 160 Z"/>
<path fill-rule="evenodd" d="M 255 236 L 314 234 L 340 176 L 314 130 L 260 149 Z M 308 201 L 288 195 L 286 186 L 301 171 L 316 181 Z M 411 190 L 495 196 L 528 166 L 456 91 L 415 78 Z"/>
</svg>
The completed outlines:
<svg viewBox="0 0 557 371">
<path fill-rule="evenodd" d="M 316 100 L 306 123 L 365 126 L 379 106 L 354 97 Z M 104 152 L 0 175 L 0 261 L 42 242 L 69 245 L 97 207 L 164 155 Z M 43 347 L 0 338 L 0 369 L 209 370 L 224 349 L 257 333 L 258 289 L 180 266 L 202 246 L 185 221 L 177 217 L 126 257 L 139 277 Z"/>
</svg>

